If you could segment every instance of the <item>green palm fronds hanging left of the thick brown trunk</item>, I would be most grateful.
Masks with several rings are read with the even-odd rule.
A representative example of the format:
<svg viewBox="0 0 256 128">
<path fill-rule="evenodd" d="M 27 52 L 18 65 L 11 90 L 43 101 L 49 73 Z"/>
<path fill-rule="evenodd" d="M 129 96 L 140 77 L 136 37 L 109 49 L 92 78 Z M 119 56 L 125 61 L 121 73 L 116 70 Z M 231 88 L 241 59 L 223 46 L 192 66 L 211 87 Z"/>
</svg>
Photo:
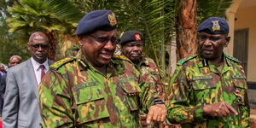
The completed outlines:
<svg viewBox="0 0 256 128">
<path fill-rule="evenodd" d="M 144 54 L 156 60 L 166 76 L 166 51 L 175 32 L 177 0 L 71 0 L 83 12 L 111 9 L 118 15 L 119 34 L 138 30 L 145 35 Z"/>
</svg>

